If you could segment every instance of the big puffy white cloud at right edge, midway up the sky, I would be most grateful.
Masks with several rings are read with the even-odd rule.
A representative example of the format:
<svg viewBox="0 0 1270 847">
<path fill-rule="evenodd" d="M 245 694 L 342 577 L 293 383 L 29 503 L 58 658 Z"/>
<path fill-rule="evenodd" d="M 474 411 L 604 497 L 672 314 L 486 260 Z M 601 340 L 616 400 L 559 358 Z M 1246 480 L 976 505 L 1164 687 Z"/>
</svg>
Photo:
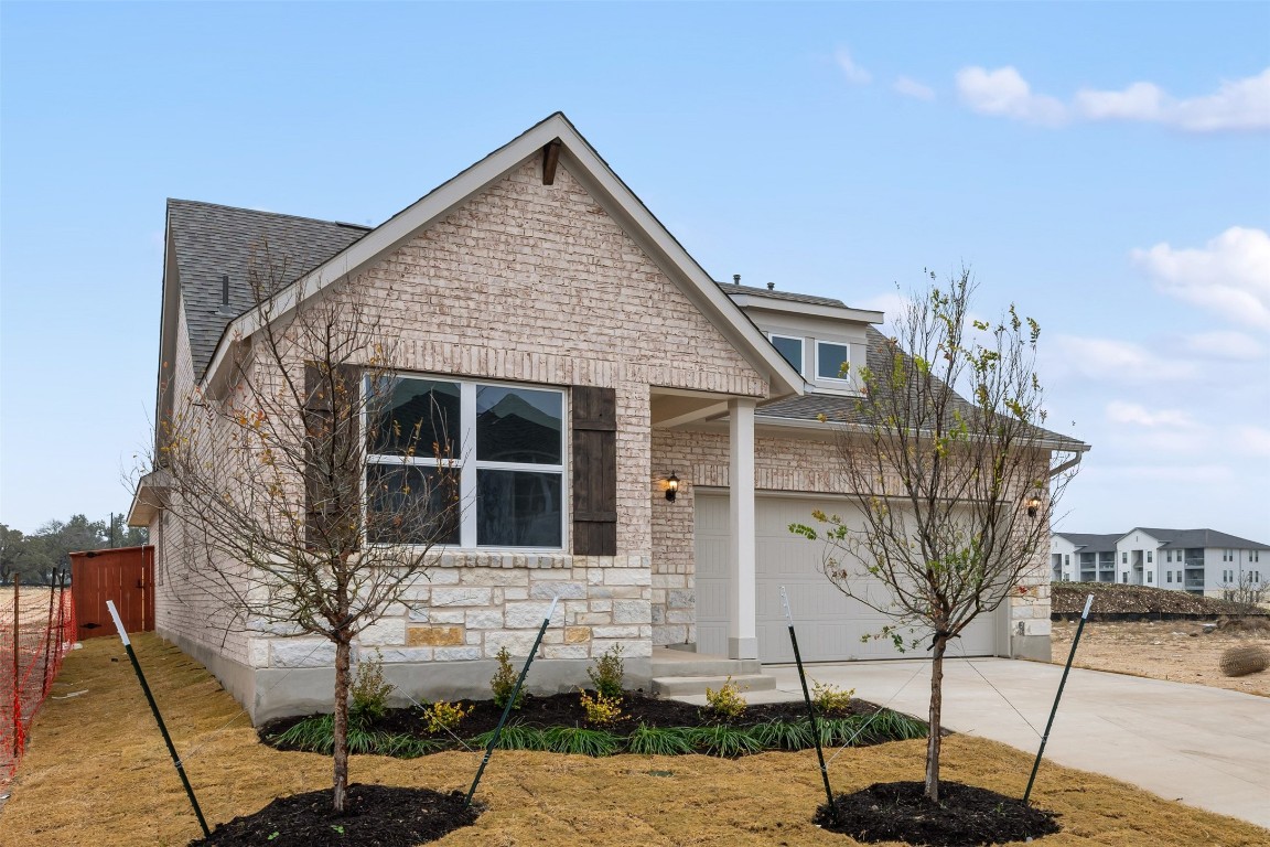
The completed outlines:
<svg viewBox="0 0 1270 847">
<path fill-rule="evenodd" d="M 1237 324 L 1270 329 L 1270 235 L 1232 226 L 1203 249 L 1161 243 L 1133 260 L 1156 287 Z"/>
</svg>

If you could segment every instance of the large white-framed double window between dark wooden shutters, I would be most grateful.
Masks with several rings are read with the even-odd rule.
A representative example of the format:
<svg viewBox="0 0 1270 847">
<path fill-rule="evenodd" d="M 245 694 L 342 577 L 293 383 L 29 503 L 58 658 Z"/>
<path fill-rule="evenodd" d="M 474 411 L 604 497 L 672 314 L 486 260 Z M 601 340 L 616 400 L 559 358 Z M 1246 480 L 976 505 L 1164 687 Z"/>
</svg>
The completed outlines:
<svg viewBox="0 0 1270 847">
<path fill-rule="evenodd" d="M 460 509 L 452 526 L 420 527 L 419 541 L 441 530 L 434 540 L 461 547 L 564 546 L 563 391 L 422 377 L 367 390 L 381 399 L 367 422 L 367 483 L 382 491 L 371 489 L 370 527 L 394 498 L 438 497 L 428 475 L 450 467 Z M 385 486 L 390 470 L 404 481 Z"/>
</svg>

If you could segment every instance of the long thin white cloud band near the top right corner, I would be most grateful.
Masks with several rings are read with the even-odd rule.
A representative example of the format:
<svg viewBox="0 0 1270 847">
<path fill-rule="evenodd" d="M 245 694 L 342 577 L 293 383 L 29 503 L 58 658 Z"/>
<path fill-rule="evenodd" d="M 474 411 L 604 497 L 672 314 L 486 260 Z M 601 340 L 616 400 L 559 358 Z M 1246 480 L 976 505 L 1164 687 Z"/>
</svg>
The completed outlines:
<svg viewBox="0 0 1270 847">
<path fill-rule="evenodd" d="M 1187 132 L 1270 128 L 1270 67 L 1255 76 L 1223 81 L 1217 91 L 1179 99 L 1154 83 L 1133 83 L 1120 90 L 1081 89 L 1072 103 L 1038 94 L 1013 67 L 993 71 L 965 67 L 956 75 L 961 99 L 975 112 L 1058 124 L 1068 117 L 1085 121 L 1134 121 Z"/>
</svg>

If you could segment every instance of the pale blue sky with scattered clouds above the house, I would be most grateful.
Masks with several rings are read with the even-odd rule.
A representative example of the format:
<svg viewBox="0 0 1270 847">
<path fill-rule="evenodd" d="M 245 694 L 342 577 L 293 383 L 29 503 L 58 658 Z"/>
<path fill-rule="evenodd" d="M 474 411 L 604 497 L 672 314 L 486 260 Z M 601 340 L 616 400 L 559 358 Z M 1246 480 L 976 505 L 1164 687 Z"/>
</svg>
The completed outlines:
<svg viewBox="0 0 1270 847">
<path fill-rule="evenodd" d="M 1270 542 L 1265 3 L 0 3 L 0 522 L 128 508 L 165 198 L 375 225 L 556 110 L 716 279 L 1035 317 L 1055 528 Z"/>
</svg>

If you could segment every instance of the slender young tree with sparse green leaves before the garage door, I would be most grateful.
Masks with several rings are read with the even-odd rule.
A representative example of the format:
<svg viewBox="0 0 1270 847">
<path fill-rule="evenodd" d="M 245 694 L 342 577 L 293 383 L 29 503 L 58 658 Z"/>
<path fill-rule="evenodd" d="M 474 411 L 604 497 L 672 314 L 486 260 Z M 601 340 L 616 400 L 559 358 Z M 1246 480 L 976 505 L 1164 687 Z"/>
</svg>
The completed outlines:
<svg viewBox="0 0 1270 847">
<path fill-rule="evenodd" d="M 1038 324 L 1013 306 L 994 326 L 972 319 L 968 270 L 946 288 L 931 279 L 895 335 L 870 345 L 864 396 L 836 422 L 855 516 L 817 512 L 819 528 L 790 528 L 827 544 L 824 573 L 839 590 L 892 616 L 878 636 L 900 649 L 918 644 L 911 627 L 928 639 L 926 796 L 937 801 L 949 643 L 1044 571 L 1049 514 L 1083 444 L 1041 428 Z"/>
</svg>

